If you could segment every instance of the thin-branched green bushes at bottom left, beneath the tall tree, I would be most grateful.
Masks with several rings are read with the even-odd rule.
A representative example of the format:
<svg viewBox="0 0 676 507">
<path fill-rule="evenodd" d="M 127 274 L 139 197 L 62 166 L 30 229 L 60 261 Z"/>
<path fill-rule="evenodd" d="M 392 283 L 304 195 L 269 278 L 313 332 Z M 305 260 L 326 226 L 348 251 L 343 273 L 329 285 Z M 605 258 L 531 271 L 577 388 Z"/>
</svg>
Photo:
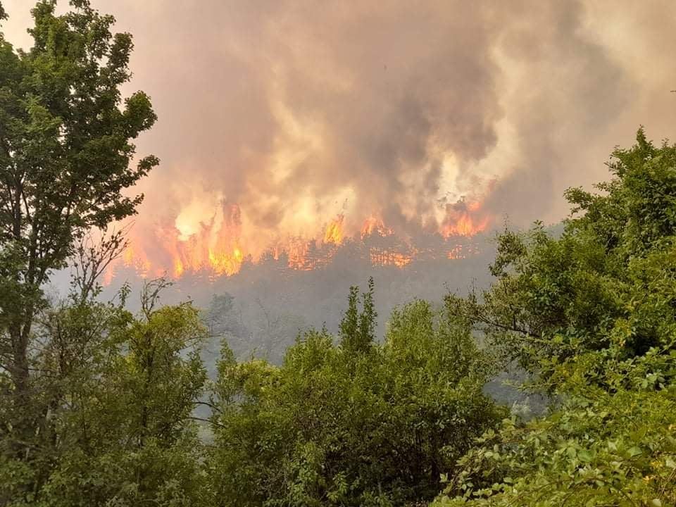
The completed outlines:
<svg viewBox="0 0 676 507">
<path fill-rule="evenodd" d="M 4 505 L 202 502 L 192 414 L 206 380 L 199 359 L 206 329 L 189 304 L 154 308 L 163 286 L 149 282 L 138 318 L 124 297 L 115 304 L 75 297 L 42 314 L 46 346 L 33 379 L 44 408 L 39 438 L 30 460 L 1 455 Z"/>
</svg>

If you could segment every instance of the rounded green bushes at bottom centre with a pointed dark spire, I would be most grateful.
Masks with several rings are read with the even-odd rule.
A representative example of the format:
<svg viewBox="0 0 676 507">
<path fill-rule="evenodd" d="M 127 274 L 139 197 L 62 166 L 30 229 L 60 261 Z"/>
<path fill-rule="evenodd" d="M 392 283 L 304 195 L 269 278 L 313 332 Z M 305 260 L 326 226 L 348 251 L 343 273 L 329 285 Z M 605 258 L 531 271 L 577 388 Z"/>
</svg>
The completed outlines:
<svg viewBox="0 0 676 507">
<path fill-rule="evenodd" d="M 467 326 L 415 301 L 392 314 L 378 345 L 365 339 L 373 333 L 372 300 L 366 294 L 359 313 L 356 294 L 341 346 L 313 331 L 280 368 L 221 361 L 208 465 L 217 505 L 431 499 L 440 472 L 503 414 L 482 394 L 484 356 Z M 358 347 L 345 346 L 347 333 Z"/>
</svg>

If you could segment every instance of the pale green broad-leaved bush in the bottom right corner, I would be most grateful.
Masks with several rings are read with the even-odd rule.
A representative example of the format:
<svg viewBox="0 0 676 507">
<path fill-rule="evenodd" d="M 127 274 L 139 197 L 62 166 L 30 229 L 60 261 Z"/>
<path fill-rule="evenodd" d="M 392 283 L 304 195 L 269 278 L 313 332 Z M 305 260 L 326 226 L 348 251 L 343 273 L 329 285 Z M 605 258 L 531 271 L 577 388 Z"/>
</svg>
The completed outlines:
<svg viewBox="0 0 676 507">
<path fill-rule="evenodd" d="M 584 383 L 587 368 L 607 362 L 580 356 L 566 368 L 562 405 L 546 418 L 508 419 L 484 434 L 435 505 L 674 505 L 676 388 L 656 390 L 663 379 L 645 373 L 654 359 L 618 365 L 618 384 L 632 387 L 608 392 Z M 676 353 L 665 360 L 673 368 Z"/>
</svg>

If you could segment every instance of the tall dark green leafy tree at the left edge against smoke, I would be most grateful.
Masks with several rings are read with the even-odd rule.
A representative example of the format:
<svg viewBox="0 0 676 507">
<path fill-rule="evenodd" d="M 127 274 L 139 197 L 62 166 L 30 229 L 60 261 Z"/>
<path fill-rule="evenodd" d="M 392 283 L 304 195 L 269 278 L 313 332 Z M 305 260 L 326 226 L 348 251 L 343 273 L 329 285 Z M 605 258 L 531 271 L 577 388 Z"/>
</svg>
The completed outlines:
<svg viewBox="0 0 676 507">
<path fill-rule="evenodd" d="M 158 164 L 130 165 L 132 139 L 156 120 L 146 94 L 120 92 L 131 35 L 113 34 L 114 18 L 88 0 L 70 5 L 56 15 L 56 0 L 37 3 L 30 51 L 0 33 L 0 357 L 17 413 L 30 399 L 42 285 L 87 230 L 134 213 L 143 196 L 123 191 Z"/>
</svg>

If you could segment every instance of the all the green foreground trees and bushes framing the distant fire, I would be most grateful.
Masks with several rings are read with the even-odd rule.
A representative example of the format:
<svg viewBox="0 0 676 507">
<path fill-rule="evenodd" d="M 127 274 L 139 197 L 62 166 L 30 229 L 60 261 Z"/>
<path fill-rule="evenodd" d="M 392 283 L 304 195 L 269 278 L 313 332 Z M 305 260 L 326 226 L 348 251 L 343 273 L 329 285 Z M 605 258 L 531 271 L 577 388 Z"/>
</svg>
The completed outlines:
<svg viewBox="0 0 676 507">
<path fill-rule="evenodd" d="M 304 332 L 281 365 L 224 342 L 208 380 L 230 301 L 208 327 L 158 304 L 163 280 L 138 314 L 128 289 L 97 297 L 124 242 L 86 234 L 134 213 L 154 114 L 122 106 L 130 36 L 72 5 L 39 2 L 27 53 L 0 36 L 0 505 L 676 505 L 676 146 L 639 130 L 599 194 L 567 192 L 563 234 L 499 234 L 486 291 L 412 301 L 378 343 L 373 284 L 353 288 L 338 336 Z M 484 394 L 513 368 L 544 415 Z"/>
</svg>

